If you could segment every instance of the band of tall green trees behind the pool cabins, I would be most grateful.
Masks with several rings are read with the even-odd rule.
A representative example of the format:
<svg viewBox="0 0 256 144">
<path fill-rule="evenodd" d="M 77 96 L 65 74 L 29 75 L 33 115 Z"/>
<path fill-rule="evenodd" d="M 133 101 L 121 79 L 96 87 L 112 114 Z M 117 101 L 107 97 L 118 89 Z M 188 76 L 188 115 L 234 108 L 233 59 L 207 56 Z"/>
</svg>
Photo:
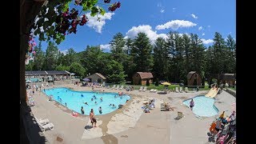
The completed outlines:
<svg viewBox="0 0 256 144">
<path fill-rule="evenodd" d="M 54 42 L 46 51 L 41 42 L 34 48 L 34 62 L 26 70 L 68 70 L 81 78 L 96 72 L 106 76 L 107 82 L 132 82 L 134 73 L 151 72 L 154 80 L 184 82 L 190 71 L 197 71 L 204 81 L 213 74 L 236 73 L 236 42 L 231 35 L 226 39 L 214 34 L 212 46 L 204 46 L 197 34 L 178 34 L 170 31 L 167 38 L 151 42 L 145 33 L 134 38 L 115 34 L 110 42 L 110 53 L 100 46 L 86 46 L 81 52 L 70 48 L 66 54 Z"/>
</svg>

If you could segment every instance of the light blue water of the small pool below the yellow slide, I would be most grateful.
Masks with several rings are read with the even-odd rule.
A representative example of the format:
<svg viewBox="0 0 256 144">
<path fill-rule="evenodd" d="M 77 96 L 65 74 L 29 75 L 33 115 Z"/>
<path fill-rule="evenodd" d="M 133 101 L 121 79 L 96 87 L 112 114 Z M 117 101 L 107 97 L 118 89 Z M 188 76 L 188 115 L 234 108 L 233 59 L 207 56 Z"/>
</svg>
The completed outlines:
<svg viewBox="0 0 256 144">
<path fill-rule="evenodd" d="M 211 117 L 218 114 L 218 108 L 214 106 L 214 98 L 207 98 L 204 95 L 199 95 L 193 98 L 194 114 L 202 117 Z M 190 108 L 190 99 L 183 101 L 183 104 Z"/>
</svg>

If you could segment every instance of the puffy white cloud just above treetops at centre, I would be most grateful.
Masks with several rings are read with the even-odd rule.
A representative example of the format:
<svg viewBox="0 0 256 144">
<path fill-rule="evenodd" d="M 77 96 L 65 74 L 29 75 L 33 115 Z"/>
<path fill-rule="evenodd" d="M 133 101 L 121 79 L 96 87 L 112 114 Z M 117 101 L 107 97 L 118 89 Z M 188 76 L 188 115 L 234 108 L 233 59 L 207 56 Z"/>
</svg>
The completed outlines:
<svg viewBox="0 0 256 144">
<path fill-rule="evenodd" d="M 128 32 L 126 33 L 125 38 L 135 38 L 138 33 L 145 33 L 148 38 L 150 38 L 151 42 L 154 42 L 157 38 L 167 38 L 166 34 L 157 34 L 157 31 L 153 31 L 152 27 L 149 25 L 142 25 L 142 26 L 133 26 Z"/>
</svg>

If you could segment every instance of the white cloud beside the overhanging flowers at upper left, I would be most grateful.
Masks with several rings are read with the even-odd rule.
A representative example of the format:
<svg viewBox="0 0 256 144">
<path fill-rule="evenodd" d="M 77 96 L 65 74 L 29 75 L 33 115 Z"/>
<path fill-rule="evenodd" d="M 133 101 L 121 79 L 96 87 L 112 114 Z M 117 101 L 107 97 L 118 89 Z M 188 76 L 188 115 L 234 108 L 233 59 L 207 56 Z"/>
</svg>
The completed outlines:
<svg viewBox="0 0 256 144">
<path fill-rule="evenodd" d="M 94 30 L 96 30 L 96 32 L 102 33 L 102 27 L 106 24 L 106 19 L 110 20 L 112 18 L 112 15 L 114 15 L 114 13 L 110 12 L 104 15 L 99 14 L 98 17 L 100 18 L 100 21 L 98 21 L 98 17 L 92 17 L 90 16 L 90 13 L 87 13 L 86 16 L 89 21 L 86 22 L 86 25 L 92 27 Z"/>
</svg>

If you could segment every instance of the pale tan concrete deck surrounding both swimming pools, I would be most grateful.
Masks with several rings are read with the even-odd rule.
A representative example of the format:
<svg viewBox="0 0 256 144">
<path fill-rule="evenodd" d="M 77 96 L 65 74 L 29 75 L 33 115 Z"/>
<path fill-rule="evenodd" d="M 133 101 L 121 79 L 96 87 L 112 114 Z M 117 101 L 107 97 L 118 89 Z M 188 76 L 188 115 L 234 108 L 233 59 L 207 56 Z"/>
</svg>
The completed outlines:
<svg viewBox="0 0 256 144">
<path fill-rule="evenodd" d="M 52 86 L 50 86 L 52 87 Z M 50 88 L 49 87 L 49 88 Z M 54 87 L 67 87 L 73 90 L 91 90 L 87 86 L 75 86 L 65 84 Z M 194 93 L 157 94 L 139 92 L 138 90 L 127 92 L 126 90 L 110 90 L 96 88 L 105 92 L 122 91 L 130 94 L 130 101 L 121 110 L 115 110 L 110 114 L 97 115 L 96 128 L 92 128 L 89 116 L 82 115 L 75 118 L 71 110 L 57 102 L 50 102 L 45 94 L 36 91 L 34 94 L 35 106 L 31 106 L 33 114 L 37 118 L 48 118 L 54 124 L 54 130 L 44 132 L 50 143 L 212 143 L 209 142 L 207 132 L 214 117 L 195 117 L 193 112 L 182 104 L 183 100 L 193 98 L 196 95 L 206 94 L 208 91 Z M 155 108 L 150 113 L 142 112 L 142 103 L 156 98 Z M 231 104 L 235 98 L 222 91 L 215 100 L 215 106 L 219 113 L 227 110 L 231 113 Z M 170 102 L 174 111 L 161 111 L 162 102 Z M 176 120 L 177 111 L 181 111 L 185 117 Z"/>
</svg>

